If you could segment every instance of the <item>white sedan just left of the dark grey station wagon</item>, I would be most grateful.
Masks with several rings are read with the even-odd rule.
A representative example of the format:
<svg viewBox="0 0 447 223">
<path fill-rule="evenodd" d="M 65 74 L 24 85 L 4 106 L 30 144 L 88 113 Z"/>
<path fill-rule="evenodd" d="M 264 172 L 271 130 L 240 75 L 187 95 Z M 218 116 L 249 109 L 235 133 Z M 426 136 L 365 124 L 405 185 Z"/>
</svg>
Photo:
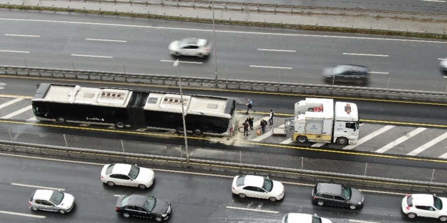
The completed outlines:
<svg viewBox="0 0 447 223">
<path fill-rule="evenodd" d="M 235 176 L 232 192 L 241 198 L 253 197 L 276 201 L 284 197 L 284 185 L 279 181 L 269 179 L 269 177 Z"/>
</svg>

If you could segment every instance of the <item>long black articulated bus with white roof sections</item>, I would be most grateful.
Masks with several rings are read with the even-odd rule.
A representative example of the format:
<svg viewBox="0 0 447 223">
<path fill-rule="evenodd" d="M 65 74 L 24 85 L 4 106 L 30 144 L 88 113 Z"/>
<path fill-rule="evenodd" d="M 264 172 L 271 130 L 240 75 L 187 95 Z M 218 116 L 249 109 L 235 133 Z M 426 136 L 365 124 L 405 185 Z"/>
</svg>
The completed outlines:
<svg viewBox="0 0 447 223">
<path fill-rule="evenodd" d="M 231 135 L 236 125 L 236 101 L 205 95 L 86 88 L 78 85 L 40 84 L 31 100 L 39 121 L 149 128 L 194 134 Z"/>
</svg>

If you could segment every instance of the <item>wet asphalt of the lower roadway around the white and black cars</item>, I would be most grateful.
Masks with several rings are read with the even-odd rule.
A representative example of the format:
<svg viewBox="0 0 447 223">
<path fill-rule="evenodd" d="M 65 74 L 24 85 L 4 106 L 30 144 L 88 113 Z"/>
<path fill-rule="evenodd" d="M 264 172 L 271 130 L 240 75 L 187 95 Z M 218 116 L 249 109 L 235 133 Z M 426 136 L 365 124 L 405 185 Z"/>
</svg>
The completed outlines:
<svg viewBox="0 0 447 223">
<path fill-rule="evenodd" d="M 281 222 L 285 213 L 316 213 L 334 223 L 413 222 L 401 213 L 407 191 L 398 194 L 366 192 L 362 209 L 350 210 L 311 204 L 312 184 L 285 183 L 278 202 L 245 198 L 231 193 L 233 176 L 190 174 L 155 169 L 155 182 L 147 190 L 108 187 L 100 180 L 101 164 L 50 161 L 0 155 L 0 218 L 2 222 L 147 222 L 125 219 L 115 212 L 116 195 L 143 194 L 167 199 L 173 211 L 167 222 Z M 62 189 L 74 195 L 72 212 L 31 211 L 27 202 L 37 187 Z M 360 188 L 362 189 L 362 188 Z M 435 219 L 418 219 L 434 222 Z"/>
</svg>

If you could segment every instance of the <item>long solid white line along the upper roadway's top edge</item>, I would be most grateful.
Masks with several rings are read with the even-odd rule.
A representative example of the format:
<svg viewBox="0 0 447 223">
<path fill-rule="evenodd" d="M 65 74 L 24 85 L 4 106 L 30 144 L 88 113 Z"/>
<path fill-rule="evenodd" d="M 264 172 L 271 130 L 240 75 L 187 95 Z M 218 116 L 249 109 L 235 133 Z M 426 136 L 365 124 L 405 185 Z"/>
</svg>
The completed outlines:
<svg viewBox="0 0 447 223">
<path fill-rule="evenodd" d="M 56 20 L 43 20 L 43 19 L 10 19 L 10 18 L 0 18 L 0 20 L 27 21 L 27 22 L 54 22 L 54 23 L 69 23 L 69 24 L 122 26 L 122 27 L 137 27 L 137 28 L 151 28 L 151 29 L 173 29 L 173 30 L 206 31 L 206 32 L 212 32 L 213 31 L 212 29 L 188 29 L 188 28 L 173 28 L 173 27 L 153 27 L 153 26 L 145 26 L 145 25 L 108 24 L 108 23 L 96 23 L 96 22 L 72 22 L 72 21 L 56 21 Z M 287 35 L 287 36 L 306 36 L 306 37 L 323 37 L 323 38 L 340 38 L 340 39 L 357 39 L 357 40 L 384 40 L 384 41 L 403 41 L 403 42 L 423 42 L 423 43 L 447 44 L 447 41 L 443 42 L 443 41 L 426 41 L 426 40 L 406 40 L 406 39 L 371 38 L 371 37 L 341 36 L 341 35 L 310 35 L 310 34 L 291 34 L 291 33 L 272 33 L 272 32 L 246 32 L 246 31 L 228 31 L 228 30 L 215 30 L 215 31 L 216 32 L 227 32 L 227 33 Z"/>
</svg>

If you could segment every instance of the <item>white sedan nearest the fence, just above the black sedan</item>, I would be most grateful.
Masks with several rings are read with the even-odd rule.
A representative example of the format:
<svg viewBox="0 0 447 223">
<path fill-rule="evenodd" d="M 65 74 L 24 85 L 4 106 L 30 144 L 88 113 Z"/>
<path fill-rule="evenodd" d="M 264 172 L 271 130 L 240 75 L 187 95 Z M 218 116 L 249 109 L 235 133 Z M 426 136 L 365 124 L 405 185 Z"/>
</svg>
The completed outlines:
<svg viewBox="0 0 447 223">
<path fill-rule="evenodd" d="M 123 185 L 146 189 L 154 181 L 151 169 L 131 164 L 106 164 L 101 171 L 101 181 L 109 186 Z"/>
</svg>

